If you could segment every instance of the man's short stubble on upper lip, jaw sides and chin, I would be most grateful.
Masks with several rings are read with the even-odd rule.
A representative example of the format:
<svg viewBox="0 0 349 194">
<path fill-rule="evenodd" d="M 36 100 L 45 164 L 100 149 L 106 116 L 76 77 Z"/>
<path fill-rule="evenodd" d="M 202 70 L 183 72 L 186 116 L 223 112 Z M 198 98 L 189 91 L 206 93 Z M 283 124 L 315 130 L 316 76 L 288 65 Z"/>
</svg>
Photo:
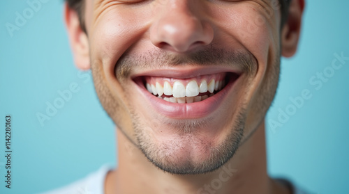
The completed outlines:
<svg viewBox="0 0 349 194">
<path fill-rule="evenodd" d="M 150 60 L 163 60 L 162 62 L 167 62 L 155 62 L 154 64 L 182 64 L 188 60 L 188 64 L 198 63 L 205 65 L 206 62 L 211 63 L 212 61 L 219 63 L 219 60 L 222 60 L 222 53 L 227 54 L 226 52 L 222 52 L 221 50 L 218 51 L 207 49 L 205 52 L 206 56 L 204 55 L 204 59 L 198 57 L 200 56 L 200 54 L 195 55 L 196 58 L 177 58 L 175 56 L 167 55 L 166 57 L 161 57 L 161 54 L 160 56 L 152 54 L 150 56 L 157 57 L 156 59 L 151 58 Z M 216 56 L 214 56 L 215 54 Z M 210 58 L 210 56 L 212 56 L 214 59 Z M 119 81 L 126 79 L 130 74 L 132 68 L 137 66 L 135 64 L 147 64 L 142 61 L 146 57 L 147 56 L 140 56 L 138 59 L 124 57 L 122 60 L 119 60 L 119 62 L 115 66 L 116 79 L 118 79 Z M 256 64 L 253 64 L 251 54 L 242 55 L 241 53 L 234 53 L 232 54 L 232 56 L 226 58 L 226 60 L 231 59 L 248 63 L 243 64 L 243 66 L 245 67 L 245 70 L 250 71 L 250 73 L 256 71 L 257 67 L 253 66 Z M 262 95 L 256 101 L 256 111 L 260 111 L 264 115 L 267 112 L 270 104 L 272 103 L 272 100 L 274 99 L 277 83 L 279 80 L 280 60 L 276 60 L 274 63 L 275 64 L 271 64 L 272 72 L 270 72 L 270 74 L 268 75 L 272 77 L 267 78 L 267 80 L 265 81 L 266 83 L 262 84 L 262 87 L 260 88 L 260 90 L 262 90 Z M 242 103 L 242 105 L 239 106 L 237 113 L 234 114 L 235 120 L 229 127 L 230 131 L 228 135 L 224 140 L 221 141 L 220 144 L 215 146 L 205 145 L 205 141 L 202 141 L 195 137 L 195 131 L 198 131 L 200 127 L 205 127 L 206 123 L 203 120 L 176 123 L 173 122 L 172 124 L 170 124 L 170 127 L 174 130 L 177 130 L 177 132 L 180 132 L 180 138 L 178 140 L 159 145 L 158 143 L 156 143 L 156 140 L 154 140 L 154 138 L 149 135 L 149 130 L 154 129 L 151 129 L 149 125 L 142 122 L 142 115 L 135 111 L 130 103 L 126 102 L 129 108 L 128 113 L 130 114 L 134 131 L 134 134 L 128 134 L 124 129 L 122 129 L 121 125 L 119 124 L 121 123 L 121 120 L 120 116 L 117 115 L 118 113 L 120 113 L 120 111 L 124 111 L 124 108 L 121 109 L 120 103 L 114 99 L 114 96 L 112 95 L 110 89 L 107 88 L 105 83 L 103 83 L 105 82 L 103 81 L 103 76 L 101 75 L 103 71 L 94 66 L 95 65 L 92 65 L 92 73 L 94 76 L 95 89 L 101 101 L 101 104 L 105 108 L 105 111 L 108 113 L 108 115 L 110 115 L 110 118 L 112 118 L 114 123 L 117 124 L 119 130 L 121 130 L 121 132 L 126 135 L 128 140 L 131 140 L 131 143 L 136 145 L 151 163 L 165 172 L 179 175 L 198 175 L 207 172 L 213 172 L 214 170 L 220 168 L 222 165 L 228 162 L 230 159 L 232 159 L 242 142 L 246 141 L 246 137 L 244 138 L 244 133 L 246 132 L 246 110 L 248 109 L 247 102 Z M 124 97 L 125 99 L 127 99 L 127 95 L 124 95 Z M 169 123 L 167 123 L 167 125 L 168 124 Z M 159 124 L 158 126 L 161 126 L 161 124 Z M 248 137 L 251 136 L 254 131 L 255 129 L 251 130 L 251 132 L 248 134 Z M 132 138 L 132 136 L 135 136 L 135 138 Z M 205 151 L 209 150 L 209 157 L 207 157 L 204 161 L 200 161 L 200 163 L 195 162 L 193 159 L 191 159 L 190 156 L 182 156 L 181 154 L 178 154 L 176 152 L 180 149 L 186 149 L 185 145 L 193 145 L 193 140 L 195 141 L 194 144 L 198 144 L 198 146 L 200 147 L 205 147 Z M 191 141 L 191 143 L 188 143 L 189 141 Z"/>
</svg>

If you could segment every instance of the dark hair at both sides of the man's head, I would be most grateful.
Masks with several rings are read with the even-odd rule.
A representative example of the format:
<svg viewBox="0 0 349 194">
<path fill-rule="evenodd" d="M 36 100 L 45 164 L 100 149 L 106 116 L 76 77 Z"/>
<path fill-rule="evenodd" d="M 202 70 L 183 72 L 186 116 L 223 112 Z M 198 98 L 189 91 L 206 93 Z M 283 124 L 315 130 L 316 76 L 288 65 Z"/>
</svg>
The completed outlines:
<svg viewBox="0 0 349 194">
<path fill-rule="evenodd" d="M 68 6 L 77 12 L 79 15 L 81 29 L 86 33 L 86 26 L 84 22 L 84 1 L 85 0 L 65 0 Z M 286 19 L 288 19 L 288 6 L 290 6 L 290 1 L 292 0 L 279 0 L 281 3 L 281 27 L 285 24 Z"/>
</svg>

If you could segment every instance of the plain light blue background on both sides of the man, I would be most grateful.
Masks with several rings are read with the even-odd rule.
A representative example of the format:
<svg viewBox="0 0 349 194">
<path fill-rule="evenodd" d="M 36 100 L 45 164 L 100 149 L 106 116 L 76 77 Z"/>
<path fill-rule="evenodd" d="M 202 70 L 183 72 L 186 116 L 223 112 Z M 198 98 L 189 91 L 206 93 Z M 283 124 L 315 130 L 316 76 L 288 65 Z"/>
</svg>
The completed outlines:
<svg viewBox="0 0 349 194">
<path fill-rule="evenodd" d="M 90 73 L 73 65 L 63 23 L 62 1 L 42 5 L 11 38 L 6 23 L 25 1 L 0 1 L 0 193 L 38 193 L 63 186 L 116 163 L 114 124 L 94 92 Z M 307 1 L 299 51 L 282 60 L 281 82 L 267 115 L 270 175 L 287 177 L 313 193 L 349 193 L 349 61 L 320 90 L 309 79 L 331 65 L 334 54 L 349 56 L 349 1 Z M 87 77 L 86 77 L 87 76 Z M 59 90 L 80 90 L 40 125 Z M 272 130 L 278 109 L 304 89 L 312 97 L 283 127 Z M 4 117 L 13 116 L 13 179 L 5 189 Z M 1 165 L 2 164 L 2 165 Z"/>
</svg>

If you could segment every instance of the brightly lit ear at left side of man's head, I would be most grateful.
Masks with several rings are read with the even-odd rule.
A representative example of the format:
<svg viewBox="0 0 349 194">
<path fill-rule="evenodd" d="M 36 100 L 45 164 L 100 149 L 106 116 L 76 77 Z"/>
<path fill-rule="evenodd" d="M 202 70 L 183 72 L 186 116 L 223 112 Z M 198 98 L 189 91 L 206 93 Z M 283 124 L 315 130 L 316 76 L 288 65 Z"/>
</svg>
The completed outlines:
<svg viewBox="0 0 349 194">
<path fill-rule="evenodd" d="M 91 67 L 89 61 L 89 41 L 86 33 L 80 27 L 80 20 L 76 11 L 69 8 L 68 3 L 64 6 L 64 16 L 75 65 L 80 70 L 89 70 Z"/>
</svg>

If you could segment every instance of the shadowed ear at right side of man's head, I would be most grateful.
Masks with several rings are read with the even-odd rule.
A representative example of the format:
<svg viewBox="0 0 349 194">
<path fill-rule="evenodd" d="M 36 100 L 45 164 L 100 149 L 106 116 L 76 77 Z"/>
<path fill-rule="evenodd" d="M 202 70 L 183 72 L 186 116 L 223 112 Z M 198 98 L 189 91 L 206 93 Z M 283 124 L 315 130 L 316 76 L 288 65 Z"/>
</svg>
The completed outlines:
<svg viewBox="0 0 349 194">
<path fill-rule="evenodd" d="M 292 0 L 288 9 L 288 19 L 286 19 L 281 31 L 281 54 L 291 57 L 297 51 L 299 34 L 302 26 L 302 15 L 304 10 L 304 0 Z"/>
</svg>

